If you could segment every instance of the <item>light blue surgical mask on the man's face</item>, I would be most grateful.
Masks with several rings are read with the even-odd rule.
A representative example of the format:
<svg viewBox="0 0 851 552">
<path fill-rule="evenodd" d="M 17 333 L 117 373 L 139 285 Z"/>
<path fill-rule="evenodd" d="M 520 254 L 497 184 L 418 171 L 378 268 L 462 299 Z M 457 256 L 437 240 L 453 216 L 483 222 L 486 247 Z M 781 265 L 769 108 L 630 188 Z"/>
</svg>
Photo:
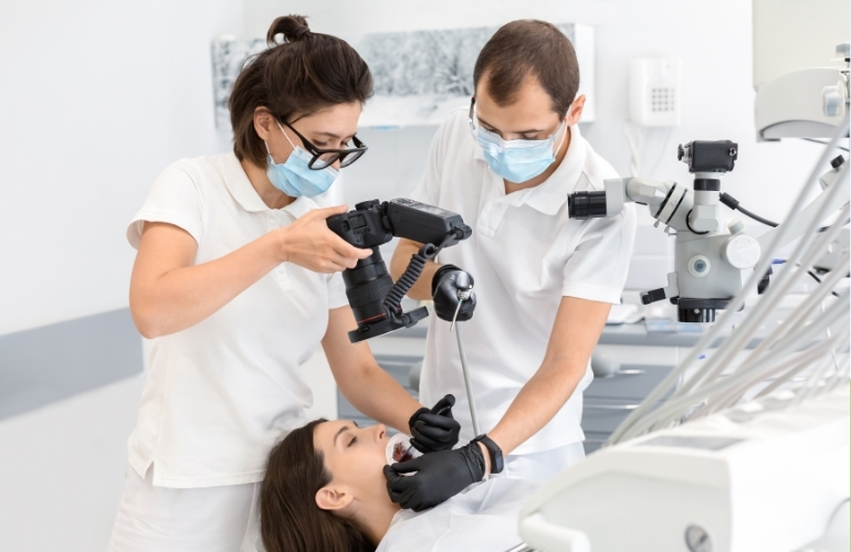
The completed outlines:
<svg viewBox="0 0 851 552">
<path fill-rule="evenodd" d="M 525 182 L 537 177 L 556 160 L 553 146 L 560 134 L 558 148 L 567 134 L 566 124 L 544 140 L 504 140 L 500 135 L 492 132 L 482 125 L 473 125 L 474 136 L 479 145 L 484 149 L 484 159 L 496 174 L 509 182 Z"/>
</svg>

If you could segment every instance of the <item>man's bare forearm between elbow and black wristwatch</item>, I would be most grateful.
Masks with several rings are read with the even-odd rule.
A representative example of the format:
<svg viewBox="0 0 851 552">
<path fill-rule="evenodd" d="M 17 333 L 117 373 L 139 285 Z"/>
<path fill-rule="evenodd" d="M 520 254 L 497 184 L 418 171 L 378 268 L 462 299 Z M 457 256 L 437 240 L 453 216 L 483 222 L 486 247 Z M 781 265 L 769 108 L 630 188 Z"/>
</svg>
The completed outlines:
<svg viewBox="0 0 851 552">
<path fill-rule="evenodd" d="M 487 435 L 508 455 L 538 433 L 576 391 L 587 362 L 566 367 L 545 361 L 526 382 L 496 427 Z"/>
</svg>

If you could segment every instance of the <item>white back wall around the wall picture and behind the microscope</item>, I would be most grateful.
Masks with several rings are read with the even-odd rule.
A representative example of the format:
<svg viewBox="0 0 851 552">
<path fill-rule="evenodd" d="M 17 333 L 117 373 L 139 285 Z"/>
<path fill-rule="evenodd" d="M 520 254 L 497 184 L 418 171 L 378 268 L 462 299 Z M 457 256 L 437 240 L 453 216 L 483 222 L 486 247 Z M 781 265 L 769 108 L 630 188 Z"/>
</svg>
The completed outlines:
<svg viewBox="0 0 851 552">
<path fill-rule="evenodd" d="M 676 161 L 677 144 L 735 140 L 739 144 L 739 160 L 722 185 L 744 206 L 770 219 L 782 219 L 816 161 L 819 146 L 795 140 L 756 142 L 750 10 L 750 2 L 743 0 L 245 0 L 245 30 L 249 35 L 264 35 L 271 21 L 285 13 L 308 15 L 314 30 L 340 36 L 495 25 L 522 18 L 592 24 L 597 42 L 597 118 L 582 131 L 597 151 L 622 174 L 629 173 L 623 135 L 629 61 L 640 56 L 682 57 L 682 125 L 670 132 L 651 132 L 643 176 L 689 182 L 685 166 Z M 361 132 L 370 151 L 349 169 L 349 200 L 384 198 L 411 189 L 424 167 L 433 131 L 406 128 Z"/>
</svg>

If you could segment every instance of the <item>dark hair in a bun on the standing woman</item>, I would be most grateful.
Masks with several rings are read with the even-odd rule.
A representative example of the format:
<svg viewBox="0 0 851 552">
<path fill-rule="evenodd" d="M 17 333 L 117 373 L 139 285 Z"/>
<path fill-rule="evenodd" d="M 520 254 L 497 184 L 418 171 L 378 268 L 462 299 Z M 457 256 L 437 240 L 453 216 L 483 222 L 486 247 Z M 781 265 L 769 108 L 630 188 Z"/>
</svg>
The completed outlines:
<svg viewBox="0 0 851 552">
<path fill-rule="evenodd" d="M 279 34 L 284 42 L 275 42 Z M 258 107 L 288 120 L 334 105 L 363 104 L 372 95 L 372 75 L 355 49 L 312 32 L 302 15 L 277 18 L 266 43 L 267 50 L 246 61 L 228 102 L 233 152 L 259 167 L 266 166 L 266 149 L 254 130 Z"/>
</svg>

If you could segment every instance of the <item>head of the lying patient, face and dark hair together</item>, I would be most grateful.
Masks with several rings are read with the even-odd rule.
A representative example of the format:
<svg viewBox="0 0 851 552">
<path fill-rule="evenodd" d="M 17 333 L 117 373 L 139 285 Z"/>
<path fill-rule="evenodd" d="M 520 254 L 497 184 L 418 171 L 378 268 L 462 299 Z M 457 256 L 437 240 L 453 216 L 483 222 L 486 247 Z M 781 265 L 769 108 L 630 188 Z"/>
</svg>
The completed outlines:
<svg viewBox="0 0 851 552">
<path fill-rule="evenodd" d="M 317 420 L 291 432 L 269 455 L 260 498 L 267 552 L 375 551 L 359 522 L 369 505 L 389 502 L 381 469 L 385 426 Z"/>
</svg>

